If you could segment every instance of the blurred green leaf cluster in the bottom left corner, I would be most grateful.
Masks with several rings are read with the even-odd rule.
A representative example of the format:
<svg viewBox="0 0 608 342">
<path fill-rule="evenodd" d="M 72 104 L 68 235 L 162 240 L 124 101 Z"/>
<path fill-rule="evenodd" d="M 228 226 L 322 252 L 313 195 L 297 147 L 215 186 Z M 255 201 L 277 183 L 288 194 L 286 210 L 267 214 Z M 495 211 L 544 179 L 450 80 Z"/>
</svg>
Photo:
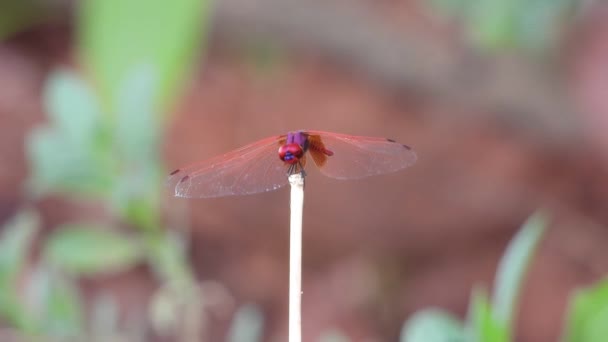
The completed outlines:
<svg viewBox="0 0 608 342">
<path fill-rule="evenodd" d="M 8 222 L 0 238 L 0 315 L 19 332 L 75 337 L 84 327 L 83 307 L 74 282 L 44 260 L 29 264 L 40 219 L 25 209 Z M 29 268 L 27 278 L 24 271 Z M 23 288 L 19 284 L 25 282 Z"/>
</svg>

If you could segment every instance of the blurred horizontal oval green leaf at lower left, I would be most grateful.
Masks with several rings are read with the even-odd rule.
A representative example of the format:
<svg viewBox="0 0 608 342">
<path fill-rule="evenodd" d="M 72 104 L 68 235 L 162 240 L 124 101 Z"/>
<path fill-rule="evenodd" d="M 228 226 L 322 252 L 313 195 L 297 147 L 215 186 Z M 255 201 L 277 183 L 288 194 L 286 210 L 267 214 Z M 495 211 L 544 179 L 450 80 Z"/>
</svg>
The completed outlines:
<svg viewBox="0 0 608 342">
<path fill-rule="evenodd" d="M 139 242 L 107 227 L 72 224 L 49 237 L 45 257 L 59 269 L 95 275 L 128 269 L 142 260 L 142 252 Z"/>
</svg>

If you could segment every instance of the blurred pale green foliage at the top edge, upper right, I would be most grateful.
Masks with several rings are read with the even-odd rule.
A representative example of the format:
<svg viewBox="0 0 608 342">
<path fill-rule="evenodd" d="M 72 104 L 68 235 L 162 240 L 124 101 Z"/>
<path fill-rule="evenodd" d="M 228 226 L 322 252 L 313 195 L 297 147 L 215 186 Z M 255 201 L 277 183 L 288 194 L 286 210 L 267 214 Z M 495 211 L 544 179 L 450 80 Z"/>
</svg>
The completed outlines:
<svg viewBox="0 0 608 342">
<path fill-rule="evenodd" d="M 430 0 L 457 18 L 471 41 L 486 50 L 542 52 L 555 47 L 579 0 Z"/>
</svg>

